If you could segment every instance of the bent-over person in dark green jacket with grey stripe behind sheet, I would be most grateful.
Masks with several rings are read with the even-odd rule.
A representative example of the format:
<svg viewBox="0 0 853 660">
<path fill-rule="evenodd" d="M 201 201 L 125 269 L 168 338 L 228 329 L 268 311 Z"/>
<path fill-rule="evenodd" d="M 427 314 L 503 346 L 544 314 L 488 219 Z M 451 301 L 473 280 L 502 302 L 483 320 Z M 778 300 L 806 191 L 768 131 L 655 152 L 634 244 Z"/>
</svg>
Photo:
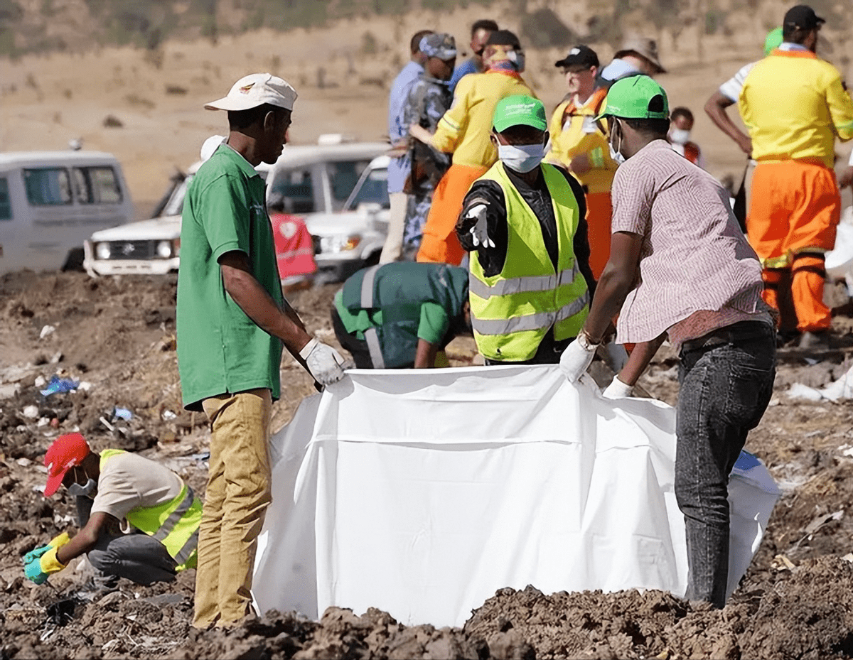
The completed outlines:
<svg viewBox="0 0 853 660">
<path fill-rule="evenodd" d="M 360 369 L 446 367 L 444 347 L 471 333 L 466 269 L 386 263 L 359 270 L 335 295 L 332 326 Z"/>
</svg>

